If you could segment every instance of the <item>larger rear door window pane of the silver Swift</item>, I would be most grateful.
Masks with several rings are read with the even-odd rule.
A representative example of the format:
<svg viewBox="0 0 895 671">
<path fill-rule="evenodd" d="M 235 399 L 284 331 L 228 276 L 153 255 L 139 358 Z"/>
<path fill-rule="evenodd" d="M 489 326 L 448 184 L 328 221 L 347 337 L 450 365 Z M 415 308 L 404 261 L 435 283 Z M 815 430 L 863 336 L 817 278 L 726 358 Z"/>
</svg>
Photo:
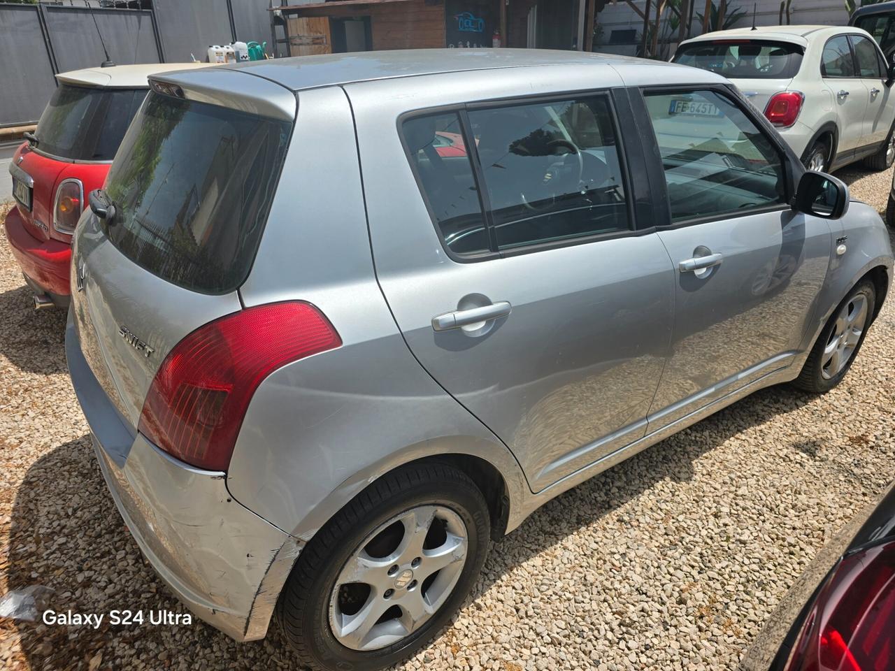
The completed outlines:
<svg viewBox="0 0 895 671">
<path fill-rule="evenodd" d="M 627 230 L 605 96 L 469 113 L 498 248 Z"/>
</svg>

